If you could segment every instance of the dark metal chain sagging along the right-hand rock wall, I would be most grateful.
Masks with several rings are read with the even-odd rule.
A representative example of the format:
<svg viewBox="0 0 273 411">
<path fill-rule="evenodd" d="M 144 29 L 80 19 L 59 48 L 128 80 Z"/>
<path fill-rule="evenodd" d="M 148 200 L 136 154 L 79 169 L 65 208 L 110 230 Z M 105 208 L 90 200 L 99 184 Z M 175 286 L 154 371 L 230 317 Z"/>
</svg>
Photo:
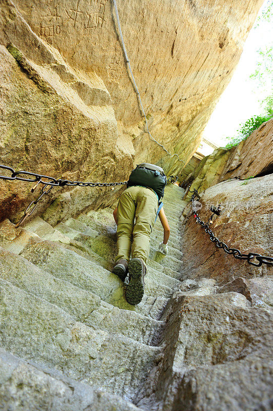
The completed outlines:
<svg viewBox="0 0 273 411">
<path fill-rule="evenodd" d="M 190 190 L 189 190 L 190 191 Z M 192 191 L 190 191 L 192 193 Z M 258 253 L 248 253 L 248 254 L 244 254 L 241 253 L 240 250 L 238 250 L 237 248 L 229 248 L 227 244 L 225 244 L 225 242 L 219 240 L 219 238 L 217 238 L 214 233 L 210 230 L 209 228 L 209 221 L 207 223 L 205 223 L 204 221 L 201 220 L 201 218 L 199 217 L 199 214 L 196 210 L 196 206 L 194 205 L 194 199 L 195 198 L 200 199 L 200 196 L 198 194 L 198 191 L 196 189 L 193 189 L 193 194 L 191 196 L 191 203 L 192 203 L 192 210 L 193 210 L 193 215 L 194 218 L 196 218 L 196 222 L 199 222 L 199 224 L 205 229 L 205 232 L 208 233 L 209 238 L 212 242 L 216 243 L 216 247 L 218 248 L 222 248 L 225 253 L 227 254 L 232 254 L 234 258 L 238 259 L 238 260 L 246 260 L 248 264 L 251 264 L 252 266 L 255 267 L 261 267 L 262 264 L 267 264 L 270 266 L 273 266 L 273 258 L 272 257 L 268 257 L 265 255 L 261 255 Z M 251 259 L 256 258 L 259 263 L 253 263 L 252 261 L 250 261 Z"/>
</svg>

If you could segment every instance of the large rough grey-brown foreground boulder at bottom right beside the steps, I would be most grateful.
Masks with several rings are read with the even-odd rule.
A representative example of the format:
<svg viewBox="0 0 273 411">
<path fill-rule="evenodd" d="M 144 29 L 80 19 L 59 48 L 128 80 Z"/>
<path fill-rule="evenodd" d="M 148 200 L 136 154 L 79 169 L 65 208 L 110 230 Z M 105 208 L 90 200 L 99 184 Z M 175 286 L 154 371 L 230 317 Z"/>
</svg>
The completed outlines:
<svg viewBox="0 0 273 411">
<path fill-rule="evenodd" d="M 165 357 L 148 389 L 154 409 L 270 409 L 272 311 L 251 308 L 238 291 L 177 292 L 172 303 Z M 140 404 L 153 409 L 147 398 Z"/>
</svg>

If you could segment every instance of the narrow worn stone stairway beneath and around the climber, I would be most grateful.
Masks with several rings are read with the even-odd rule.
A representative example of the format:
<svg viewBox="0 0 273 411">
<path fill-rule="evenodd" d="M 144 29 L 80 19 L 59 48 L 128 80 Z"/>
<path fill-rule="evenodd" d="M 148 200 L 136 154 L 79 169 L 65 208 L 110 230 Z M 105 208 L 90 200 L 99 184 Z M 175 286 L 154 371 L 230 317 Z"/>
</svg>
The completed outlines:
<svg viewBox="0 0 273 411">
<path fill-rule="evenodd" d="M 124 284 L 111 273 L 116 252 L 112 209 L 90 211 L 54 228 L 40 217 L 18 229 L 9 220 L 1 223 L 1 367 L 13 364 L 13 375 L 2 386 L 6 403 L 19 401 L 14 369 L 23 367 L 24 383 L 30 379 L 30 387 L 49 390 L 48 401 L 57 401 L 54 410 L 86 409 L 88 401 L 90 409 L 112 409 L 111 404 L 140 409 L 133 404 L 143 398 L 149 372 L 162 360 L 162 316 L 181 284 L 183 193 L 176 185 L 166 187 L 169 251 L 167 256 L 157 251 L 163 240 L 158 219 L 145 295 L 137 306 L 126 302 Z M 71 398 L 60 394 L 61 383 L 81 393 L 79 402 L 71 393 Z M 32 409 L 26 398 L 22 401 L 7 409 Z M 47 407 L 45 396 L 39 409 Z"/>
</svg>

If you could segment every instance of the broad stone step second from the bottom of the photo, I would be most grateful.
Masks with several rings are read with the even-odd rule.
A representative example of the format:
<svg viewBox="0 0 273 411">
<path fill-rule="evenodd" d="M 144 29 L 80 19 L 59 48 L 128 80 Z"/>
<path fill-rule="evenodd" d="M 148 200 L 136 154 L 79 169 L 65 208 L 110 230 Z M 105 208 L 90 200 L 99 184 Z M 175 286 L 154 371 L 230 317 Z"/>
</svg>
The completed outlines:
<svg viewBox="0 0 273 411">
<path fill-rule="evenodd" d="M 88 327 L 0 279 L 0 344 L 24 360 L 133 401 L 162 348 Z"/>
</svg>

